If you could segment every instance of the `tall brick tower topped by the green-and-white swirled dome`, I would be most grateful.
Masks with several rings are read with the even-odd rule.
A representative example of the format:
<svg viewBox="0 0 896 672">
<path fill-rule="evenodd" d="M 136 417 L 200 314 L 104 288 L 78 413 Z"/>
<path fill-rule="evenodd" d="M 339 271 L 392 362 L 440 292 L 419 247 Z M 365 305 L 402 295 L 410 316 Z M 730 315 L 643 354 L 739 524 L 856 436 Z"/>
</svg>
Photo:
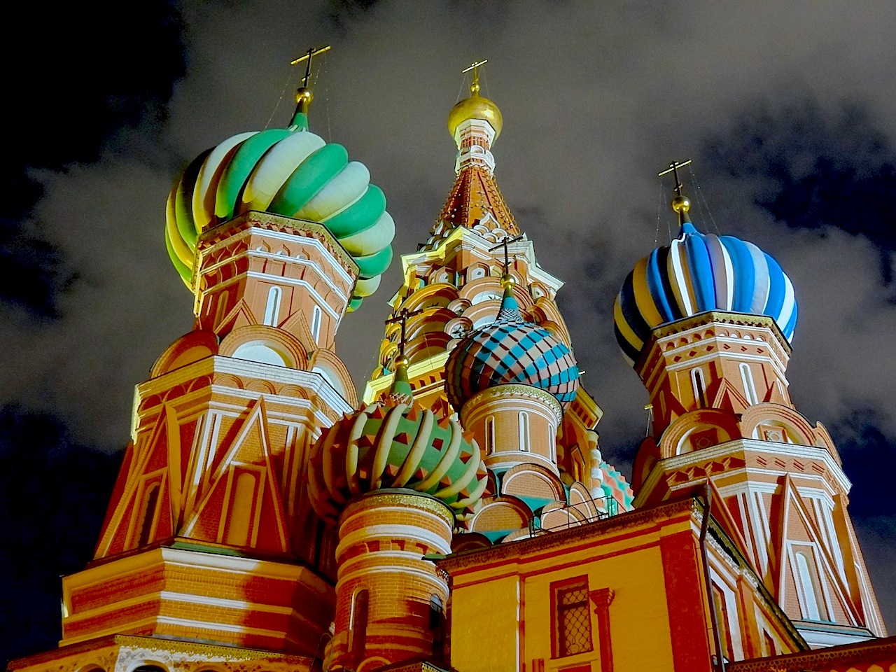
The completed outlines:
<svg viewBox="0 0 896 672">
<path fill-rule="evenodd" d="M 47 664 L 188 666 L 178 640 L 252 669 L 322 655 L 338 539 L 306 465 L 357 406 L 335 336 L 388 266 L 394 224 L 366 168 L 308 130 L 310 99 L 300 89 L 289 127 L 222 142 L 174 185 L 165 240 L 194 331 L 137 386 L 133 441 L 92 562 L 63 580 Z"/>
</svg>

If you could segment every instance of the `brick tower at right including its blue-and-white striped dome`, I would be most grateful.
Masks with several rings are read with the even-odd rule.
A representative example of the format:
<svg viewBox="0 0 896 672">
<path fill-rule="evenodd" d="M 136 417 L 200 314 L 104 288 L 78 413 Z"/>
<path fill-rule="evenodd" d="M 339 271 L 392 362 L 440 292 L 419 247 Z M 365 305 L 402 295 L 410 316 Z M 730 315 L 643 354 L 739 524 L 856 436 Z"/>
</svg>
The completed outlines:
<svg viewBox="0 0 896 672">
<path fill-rule="evenodd" d="M 806 642 L 882 636 L 840 455 L 788 392 L 793 286 L 752 243 L 694 228 L 677 189 L 679 236 L 637 263 L 616 299 L 616 336 L 654 418 L 634 462 L 635 504 L 710 479 L 717 516 Z"/>
</svg>

